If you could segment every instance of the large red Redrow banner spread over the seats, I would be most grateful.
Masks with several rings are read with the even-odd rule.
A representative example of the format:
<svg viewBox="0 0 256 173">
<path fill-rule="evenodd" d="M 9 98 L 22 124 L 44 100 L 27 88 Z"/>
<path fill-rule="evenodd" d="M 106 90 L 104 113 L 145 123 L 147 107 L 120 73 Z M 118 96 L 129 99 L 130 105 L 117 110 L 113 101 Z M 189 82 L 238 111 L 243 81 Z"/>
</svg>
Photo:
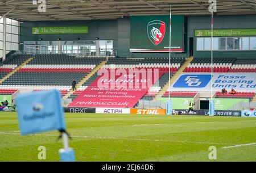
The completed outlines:
<svg viewBox="0 0 256 173">
<path fill-rule="evenodd" d="M 131 108 L 163 75 L 158 69 L 100 69 L 68 107 Z"/>
</svg>

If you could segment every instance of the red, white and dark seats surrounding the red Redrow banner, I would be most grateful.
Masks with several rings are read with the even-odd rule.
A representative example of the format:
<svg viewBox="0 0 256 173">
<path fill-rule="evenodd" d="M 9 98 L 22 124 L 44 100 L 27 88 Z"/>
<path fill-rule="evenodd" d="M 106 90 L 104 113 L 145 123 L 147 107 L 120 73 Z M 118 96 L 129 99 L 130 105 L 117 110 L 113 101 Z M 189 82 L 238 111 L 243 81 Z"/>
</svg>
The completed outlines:
<svg viewBox="0 0 256 173">
<path fill-rule="evenodd" d="M 159 78 L 157 85 L 150 87 L 146 94 L 141 98 L 142 100 L 152 100 L 161 88 L 166 85 L 169 80 L 168 58 L 109 58 L 104 69 L 158 69 L 163 75 Z M 185 58 L 176 57 L 171 59 L 171 77 L 183 65 Z M 82 86 L 70 95 L 68 98 L 74 100 L 78 95 L 82 93 L 88 86 L 92 87 L 92 82 L 98 78 L 97 73 L 94 73 Z M 95 86 L 94 86 L 95 87 Z"/>
</svg>

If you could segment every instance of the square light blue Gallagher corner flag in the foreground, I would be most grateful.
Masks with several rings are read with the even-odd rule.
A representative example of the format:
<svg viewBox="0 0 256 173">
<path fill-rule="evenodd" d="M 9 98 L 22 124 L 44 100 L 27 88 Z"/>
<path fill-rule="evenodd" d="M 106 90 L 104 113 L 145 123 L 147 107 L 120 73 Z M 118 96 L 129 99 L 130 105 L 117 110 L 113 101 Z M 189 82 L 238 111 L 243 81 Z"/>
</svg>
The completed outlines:
<svg viewBox="0 0 256 173">
<path fill-rule="evenodd" d="M 16 105 L 22 135 L 66 128 L 58 90 L 20 94 Z"/>
</svg>

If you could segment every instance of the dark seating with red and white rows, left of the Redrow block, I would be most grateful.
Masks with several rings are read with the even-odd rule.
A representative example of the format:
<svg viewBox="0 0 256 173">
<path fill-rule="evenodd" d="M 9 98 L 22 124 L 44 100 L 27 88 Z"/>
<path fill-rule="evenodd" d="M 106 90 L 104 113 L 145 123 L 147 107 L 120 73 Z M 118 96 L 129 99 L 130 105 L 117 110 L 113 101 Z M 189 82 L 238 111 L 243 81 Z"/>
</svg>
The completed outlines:
<svg viewBox="0 0 256 173">
<path fill-rule="evenodd" d="M 57 88 L 62 95 L 65 95 L 71 90 L 73 79 L 80 82 L 94 67 L 105 60 L 105 58 L 77 58 L 65 54 L 18 55 L 8 64 L 0 67 L 1 78 L 20 66 L 28 57 L 33 59 L 2 81 L 0 94 L 10 95 L 19 89 L 37 91 Z"/>
</svg>

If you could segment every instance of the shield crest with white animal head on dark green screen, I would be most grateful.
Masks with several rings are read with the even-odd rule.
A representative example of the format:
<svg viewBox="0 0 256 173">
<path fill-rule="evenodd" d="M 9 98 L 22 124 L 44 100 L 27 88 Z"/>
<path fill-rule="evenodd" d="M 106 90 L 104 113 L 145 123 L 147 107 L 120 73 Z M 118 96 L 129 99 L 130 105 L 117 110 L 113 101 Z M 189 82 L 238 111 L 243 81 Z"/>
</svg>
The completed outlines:
<svg viewBox="0 0 256 173">
<path fill-rule="evenodd" d="M 147 35 L 154 45 L 158 45 L 166 33 L 166 23 L 160 20 L 152 20 L 147 24 Z"/>
</svg>

